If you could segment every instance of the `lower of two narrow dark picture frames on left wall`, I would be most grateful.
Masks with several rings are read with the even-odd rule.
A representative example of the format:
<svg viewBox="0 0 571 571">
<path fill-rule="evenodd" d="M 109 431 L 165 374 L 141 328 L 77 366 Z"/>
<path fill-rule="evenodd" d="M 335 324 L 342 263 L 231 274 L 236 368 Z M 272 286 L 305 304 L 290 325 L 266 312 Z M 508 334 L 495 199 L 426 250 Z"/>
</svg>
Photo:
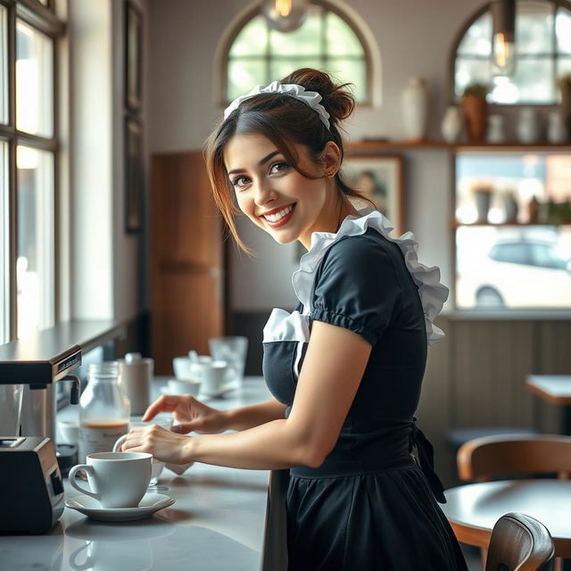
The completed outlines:
<svg viewBox="0 0 571 571">
<path fill-rule="evenodd" d="M 125 231 L 135 233 L 141 229 L 143 217 L 143 136 L 140 124 L 133 119 L 125 121 Z"/>
</svg>

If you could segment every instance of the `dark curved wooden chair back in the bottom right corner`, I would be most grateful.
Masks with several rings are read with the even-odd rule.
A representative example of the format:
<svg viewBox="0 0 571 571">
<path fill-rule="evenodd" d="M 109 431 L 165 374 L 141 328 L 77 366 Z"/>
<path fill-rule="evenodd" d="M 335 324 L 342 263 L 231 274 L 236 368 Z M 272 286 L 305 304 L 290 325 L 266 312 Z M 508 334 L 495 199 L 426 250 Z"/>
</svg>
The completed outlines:
<svg viewBox="0 0 571 571">
<path fill-rule="evenodd" d="M 541 522 L 509 513 L 493 526 L 485 571 L 551 571 L 555 548 Z"/>
</svg>

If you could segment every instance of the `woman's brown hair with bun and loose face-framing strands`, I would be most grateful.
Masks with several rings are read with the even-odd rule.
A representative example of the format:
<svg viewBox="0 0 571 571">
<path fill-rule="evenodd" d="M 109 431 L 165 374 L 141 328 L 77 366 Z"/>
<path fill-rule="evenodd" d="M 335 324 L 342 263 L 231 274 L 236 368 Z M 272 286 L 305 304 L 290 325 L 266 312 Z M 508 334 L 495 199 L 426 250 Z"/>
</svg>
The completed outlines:
<svg viewBox="0 0 571 571">
<path fill-rule="evenodd" d="M 329 113 L 330 127 L 326 127 L 309 105 L 291 95 L 260 94 L 240 103 L 211 134 L 205 145 L 206 168 L 214 201 L 226 220 L 231 235 L 244 252 L 249 250 L 236 230 L 234 216 L 240 211 L 236 207 L 234 189 L 224 164 L 224 150 L 228 141 L 236 135 L 253 133 L 268 137 L 295 170 L 310 178 L 299 167 L 299 156 L 294 145 L 304 145 L 312 160 L 319 163 L 325 145 L 328 141 L 333 141 L 339 147 L 343 161 L 343 141 L 338 125 L 351 115 L 355 107 L 355 98 L 348 89 L 350 84 L 335 85 L 323 71 L 302 68 L 290 73 L 280 83 L 294 83 L 305 87 L 307 91 L 317 91 L 322 97 L 320 103 Z M 335 175 L 335 183 L 342 195 L 367 200 L 346 185 L 340 171 Z"/>
</svg>

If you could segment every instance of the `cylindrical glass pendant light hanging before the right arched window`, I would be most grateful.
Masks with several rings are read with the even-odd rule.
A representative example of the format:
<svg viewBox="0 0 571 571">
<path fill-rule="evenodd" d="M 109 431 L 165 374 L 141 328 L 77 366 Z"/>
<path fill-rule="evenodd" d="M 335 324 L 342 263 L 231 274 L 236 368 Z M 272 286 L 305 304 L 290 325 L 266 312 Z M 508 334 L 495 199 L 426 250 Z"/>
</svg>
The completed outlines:
<svg viewBox="0 0 571 571">
<path fill-rule="evenodd" d="M 492 10 L 492 75 L 509 77 L 516 70 L 516 0 L 496 0 Z"/>
</svg>

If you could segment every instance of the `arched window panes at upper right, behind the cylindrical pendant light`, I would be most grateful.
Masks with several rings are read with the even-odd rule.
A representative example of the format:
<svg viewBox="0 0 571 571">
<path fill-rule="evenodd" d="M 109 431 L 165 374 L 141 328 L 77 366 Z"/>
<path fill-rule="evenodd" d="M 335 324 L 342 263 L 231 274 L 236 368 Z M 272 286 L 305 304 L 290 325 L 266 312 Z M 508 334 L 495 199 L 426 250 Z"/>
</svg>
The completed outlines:
<svg viewBox="0 0 571 571">
<path fill-rule="evenodd" d="M 571 3 L 566 0 L 517 0 L 516 71 L 492 78 L 492 13 L 476 13 L 455 51 L 454 95 L 471 83 L 490 86 L 489 103 L 553 104 L 557 79 L 571 73 Z"/>
</svg>

